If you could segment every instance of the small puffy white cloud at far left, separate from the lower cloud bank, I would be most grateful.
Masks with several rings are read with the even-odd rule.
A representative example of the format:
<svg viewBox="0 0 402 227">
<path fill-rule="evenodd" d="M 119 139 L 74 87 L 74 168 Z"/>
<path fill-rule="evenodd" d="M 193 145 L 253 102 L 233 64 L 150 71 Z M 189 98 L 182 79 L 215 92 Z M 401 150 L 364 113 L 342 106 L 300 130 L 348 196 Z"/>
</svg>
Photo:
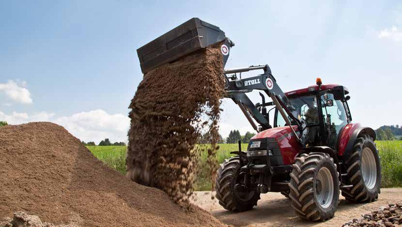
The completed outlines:
<svg viewBox="0 0 402 227">
<path fill-rule="evenodd" d="M 3 92 L 7 97 L 16 102 L 23 104 L 31 104 L 32 98 L 30 91 L 25 88 L 27 83 L 25 81 L 8 81 L 7 83 L 0 83 L 0 92 Z"/>
</svg>

